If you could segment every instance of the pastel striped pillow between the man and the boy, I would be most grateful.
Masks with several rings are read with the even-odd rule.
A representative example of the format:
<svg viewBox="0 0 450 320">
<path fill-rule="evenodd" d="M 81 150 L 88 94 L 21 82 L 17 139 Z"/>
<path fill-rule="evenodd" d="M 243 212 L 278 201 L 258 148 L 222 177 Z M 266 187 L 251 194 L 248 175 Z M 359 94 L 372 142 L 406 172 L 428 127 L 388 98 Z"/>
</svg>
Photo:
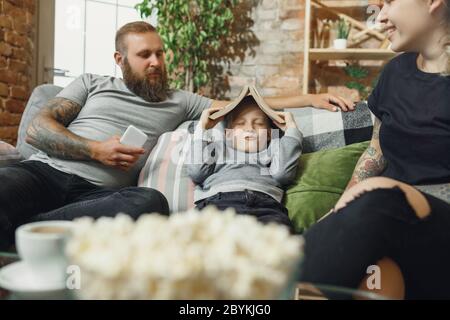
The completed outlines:
<svg viewBox="0 0 450 320">
<path fill-rule="evenodd" d="M 138 186 L 164 194 L 170 212 L 183 212 L 194 207 L 195 186 L 184 166 L 186 141 L 192 128 L 194 122 L 188 121 L 175 131 L 161 135 L 139 175 Z"/>
</svg>

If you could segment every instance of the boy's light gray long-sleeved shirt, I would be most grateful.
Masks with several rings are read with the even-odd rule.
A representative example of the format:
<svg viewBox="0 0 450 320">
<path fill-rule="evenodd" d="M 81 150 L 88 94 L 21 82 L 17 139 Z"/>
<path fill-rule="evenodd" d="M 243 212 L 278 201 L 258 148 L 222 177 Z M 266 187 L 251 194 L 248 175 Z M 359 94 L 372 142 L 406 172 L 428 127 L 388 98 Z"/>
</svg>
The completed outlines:
<svg viewBox="0 0 450 320">
<path fill-rule="evenodd" d="M 219 192 L 252 190 L 281 202 L 283 187 L 292 183 L 296 176 L 302 133 L 297 128 L 288 128 L 283 137 L 272 138 L 267 149 L 246 153 L 231 147 L 223 129 L 216 127 L 212 131 L 214 134 L 197 127 L 191 136 L 186 166 L 196 184 L 194 200 L 197 202 Z"/>
</svg>

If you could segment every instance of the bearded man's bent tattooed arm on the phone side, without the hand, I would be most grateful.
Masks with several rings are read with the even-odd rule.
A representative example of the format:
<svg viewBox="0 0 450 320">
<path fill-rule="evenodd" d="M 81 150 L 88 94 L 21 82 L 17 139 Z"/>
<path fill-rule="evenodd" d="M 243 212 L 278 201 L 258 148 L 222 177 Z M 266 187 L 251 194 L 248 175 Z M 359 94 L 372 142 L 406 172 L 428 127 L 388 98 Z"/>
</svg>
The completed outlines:
<svg viewBox="0 0 450 320">
<path fill-rule="evenodd" d="M 26 142 L 56 158 L 90 160 L 93 141 L 66 128 L 80 110 L 81 106 L 70 100 L 50 100 L 28 127 Z"/>
</svg>

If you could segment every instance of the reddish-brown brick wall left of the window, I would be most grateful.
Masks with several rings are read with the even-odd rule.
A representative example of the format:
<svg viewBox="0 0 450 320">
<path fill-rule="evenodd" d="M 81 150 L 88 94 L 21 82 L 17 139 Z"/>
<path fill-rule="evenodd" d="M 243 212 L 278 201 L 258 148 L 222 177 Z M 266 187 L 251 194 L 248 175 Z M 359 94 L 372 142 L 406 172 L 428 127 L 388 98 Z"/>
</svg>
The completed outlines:
<svg viewBox="0 0 450 320">
<path fill-rule="evenodd" d="M 15 144 L 31 90 L 35 0 L 0 0 L 0 139 Z"/>
</svg>

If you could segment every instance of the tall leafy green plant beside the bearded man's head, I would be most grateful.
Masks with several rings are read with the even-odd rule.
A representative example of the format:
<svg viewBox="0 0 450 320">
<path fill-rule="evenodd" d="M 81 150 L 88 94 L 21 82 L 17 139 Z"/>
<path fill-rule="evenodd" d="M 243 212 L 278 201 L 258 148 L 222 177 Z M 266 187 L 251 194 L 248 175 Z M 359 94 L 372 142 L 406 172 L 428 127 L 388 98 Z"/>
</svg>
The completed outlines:
<svg viewBox="0 0 450 320">
<path fill-rule="evenodd" d="M 237 5 L 237 0 L 141 0 L 135 6 L 143 18 L 154 10 L 158 14 L 173 87 L 197 92 L 211 82 L 208 66 L 231 34 Z M 222 60 L 229 63 L 231 59 Z"/>
</svg>

